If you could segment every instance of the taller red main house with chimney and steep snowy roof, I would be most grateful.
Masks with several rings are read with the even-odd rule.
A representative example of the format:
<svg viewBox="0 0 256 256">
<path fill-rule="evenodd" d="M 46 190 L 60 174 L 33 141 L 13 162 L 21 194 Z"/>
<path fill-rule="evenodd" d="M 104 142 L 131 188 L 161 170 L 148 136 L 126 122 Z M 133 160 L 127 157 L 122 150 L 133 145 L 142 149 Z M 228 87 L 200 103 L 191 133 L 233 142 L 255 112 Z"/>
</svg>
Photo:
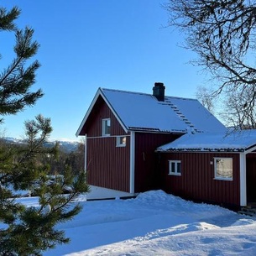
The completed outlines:
<svg viewBox="0 0 256 256">
<path fill-rule="evenodd" d="M 165 86 L 155 83 L 153 94 L 99 88 L 76 135 L 86 136 L 86 171 L 90 185 L 131 194 L 163 189 L 180 196 L 205 199 L 199 191 L 193 196 L 193 191 L 186 193 L 185 187 L 177 188 L 179 175 L 169 175 L 169 164 L 173 165 L 170 159 L 175 159 L 177 153 L 159 147 L 183 138 L 186 133 L 223 133 L 225 130 L 200 102 L 166 97 Z M 156 149 L 165 154 L 156 153 Z M 182 161 L 182 168 L 183 165 Z M 191 185 L 190 179 L 187 176 L 182 182 Z"/>
</svg>

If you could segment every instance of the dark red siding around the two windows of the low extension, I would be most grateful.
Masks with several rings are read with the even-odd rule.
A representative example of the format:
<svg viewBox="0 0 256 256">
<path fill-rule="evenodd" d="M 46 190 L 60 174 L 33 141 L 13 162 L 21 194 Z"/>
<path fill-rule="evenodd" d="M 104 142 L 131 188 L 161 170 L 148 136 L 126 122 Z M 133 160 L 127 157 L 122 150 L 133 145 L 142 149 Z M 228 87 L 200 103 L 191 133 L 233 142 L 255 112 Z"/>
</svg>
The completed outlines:
<svg viewBox="0 0 256 256">
<path fill-rule="evenodd" d="M 191 200 L 212 201 L 239 206 L 240 174 L 239 154 L 218 153 L 166 153 L 160 154 L 161 182 L 166 192 Z M 231 157 L 233 179 L 214 179 L 214 157 Z M 168 175 L 168 160 L 181 160 L 181 175 Z M 212 162 L 212 164 L 211 164 Z"/>
</svg>

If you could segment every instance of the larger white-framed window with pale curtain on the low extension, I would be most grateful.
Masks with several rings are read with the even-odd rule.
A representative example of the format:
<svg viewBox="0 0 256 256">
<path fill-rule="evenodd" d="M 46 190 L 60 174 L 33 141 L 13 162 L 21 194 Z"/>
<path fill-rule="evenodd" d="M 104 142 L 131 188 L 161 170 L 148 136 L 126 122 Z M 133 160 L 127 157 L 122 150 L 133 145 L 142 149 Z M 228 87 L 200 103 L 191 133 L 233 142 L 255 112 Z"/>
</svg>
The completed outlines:
<svg viewBox="0 0 256 256">
<path fill-rule="evenodd" d="M 232 180 L 232 158 L 214 158 L 214 178 L 216 180 Z"/>
</svg>

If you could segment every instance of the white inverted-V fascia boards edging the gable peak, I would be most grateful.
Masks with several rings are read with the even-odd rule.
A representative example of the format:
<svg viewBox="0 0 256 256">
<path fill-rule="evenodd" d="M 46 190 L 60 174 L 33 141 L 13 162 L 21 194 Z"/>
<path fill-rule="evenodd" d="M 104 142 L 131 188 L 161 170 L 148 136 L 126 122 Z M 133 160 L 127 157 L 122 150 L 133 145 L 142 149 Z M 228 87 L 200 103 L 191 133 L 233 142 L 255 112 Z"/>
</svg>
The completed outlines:
<svg viewBox="0 0 256 256">
<path fill-rule="evenodd" d="M 118 119 L 118 122 L 121 124 L 123 130 L 125 131 L 125 133 L 128 133 L 128 128 L 123 124 L 122 120 L 118 117 L 118 114 L 117 112 L 115 112 L 115 110 L 112 108 L 110 102 L 107 101 L 107 97 L 105 97 L 103 91 L 102 91 L 102 88 L 99 88 L 97 90 L 97 93 L 95 95 L 95 97 L 93 98 L 92 102 L 91 102 L 91 105 L 90 107 L 88 108 L 87 112 L 86 112 L 86 115 L 85 117 L 83 118 L 77 132 L 76 132 L 76 136 L 79 136 L 79 133 L 81 133 L 81 129 L 83 128 L 83 126 L 85 125 L 86 123 L 86 120 L 87 118 L 90 116 L 91 114 L 91 110 L 92 108 L 94 107 L 95 103 L 97 102 L 97 99 L 99 96 L 102 96 L 103 100 L 106 102 L 107 106 L 111 109 L 112 113 L 114 114 L 115 118 Z"/>
</svg>

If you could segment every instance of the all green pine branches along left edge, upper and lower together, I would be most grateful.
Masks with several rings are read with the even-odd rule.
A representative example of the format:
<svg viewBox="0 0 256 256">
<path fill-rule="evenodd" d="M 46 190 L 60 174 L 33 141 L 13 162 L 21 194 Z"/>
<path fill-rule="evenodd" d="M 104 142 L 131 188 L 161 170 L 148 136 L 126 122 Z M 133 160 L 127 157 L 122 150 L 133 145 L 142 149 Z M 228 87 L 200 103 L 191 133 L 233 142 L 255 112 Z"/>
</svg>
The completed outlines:
<svg viewBox="0 0 256 256">
<path fill-rule="evenodd" d="M 39 63 L 26 65 L 36 54 L 39 44 L 32 42 L 33 29 L 18 30 L 13 21 L 20 10 L 7 12 L 0 8 L 0 29 L 14 32 L 17 57 L 0 76 L 0 114 L 7 115 L 32 106 L 41 90 L 29 92 L 34 84 Z M 42 157 L 57 156 L 58 145 L 45 148 L 52 127 L 50 118 L 38 115 L 25 122 L 26 143 L 13 147 L 0 141 L 0 255 L 41 255 L 56 244 L 68 243 L 56 224 L 66 222 L 81 211 L 74 202 L 88 191 L 86 175 L 74 176 L 68 165 L 62 175 L 50 175 L 50 165 L 39 161 Z M 38 196 L 38 206 L 24 206 L 18 201 L 19 191 L 31 191 Z M 69 191 L 63 194 L 63 191 Z"/>
</svg>

